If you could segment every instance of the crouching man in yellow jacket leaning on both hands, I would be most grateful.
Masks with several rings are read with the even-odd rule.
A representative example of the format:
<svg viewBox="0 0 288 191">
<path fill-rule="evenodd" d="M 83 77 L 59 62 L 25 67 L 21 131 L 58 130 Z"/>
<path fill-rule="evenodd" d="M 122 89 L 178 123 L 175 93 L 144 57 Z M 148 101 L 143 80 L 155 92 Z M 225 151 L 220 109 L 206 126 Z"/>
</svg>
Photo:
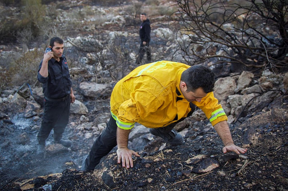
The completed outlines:
<svg viewBox="0 0 288 191">
<path fill-rule="evenodd" d="M 128 136 L 135 122 L 149 128 L 167 143 L 179 145 L 183 137 L 173 127 L 190 116 L 198 106 L 210 120 L 225 145 L 223 153 L 245 153 L 234 145 L 227 116 L 214 98 L 215 75 L 207 67 L 158 61 L 137 67 L 115 85 L 110 100 L 111 117 L 107 128 L 96 139 L 82 170 L 94 170 L 101 158 L 118 145 L 118 163 L 133 167 Z"/>
</svg>

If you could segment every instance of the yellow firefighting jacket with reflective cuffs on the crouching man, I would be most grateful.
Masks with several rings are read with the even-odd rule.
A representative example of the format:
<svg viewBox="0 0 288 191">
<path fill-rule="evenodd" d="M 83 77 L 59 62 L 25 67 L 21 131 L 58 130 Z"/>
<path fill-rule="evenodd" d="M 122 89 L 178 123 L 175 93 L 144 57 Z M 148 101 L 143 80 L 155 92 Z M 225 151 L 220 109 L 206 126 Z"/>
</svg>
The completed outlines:
<svg viewBox="0 0 288 191">
<path fill-rule="evenodd" d="M 187 117 L 190 103 L 180 91 L 181 74 L 189 65 L 158 61 L 142 65 L 118 81 L 111 94 L 111 114 L 119 128 L 131 129 L 135 122 L 148 128 L 164 127 Z M 208 93 L 198 106 L 214 126 L 227 116 Z"/>
</svg>

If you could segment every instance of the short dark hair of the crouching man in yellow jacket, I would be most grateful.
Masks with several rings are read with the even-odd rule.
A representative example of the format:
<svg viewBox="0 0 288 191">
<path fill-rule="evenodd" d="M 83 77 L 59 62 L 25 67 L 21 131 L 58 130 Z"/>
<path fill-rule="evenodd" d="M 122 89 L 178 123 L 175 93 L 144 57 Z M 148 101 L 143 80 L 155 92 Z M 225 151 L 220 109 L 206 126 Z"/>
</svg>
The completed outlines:
<svg viewBox="0 0 288 191">
<path fill-rule="evenodd" d="M 191 66 L 182 73 L 181 80 L 186 83 L 187 92 L 194 92 L 199 87 L 202 87 L 205 93 L 214 91 L 215 74 L 208 67 Z"/>
</svg>

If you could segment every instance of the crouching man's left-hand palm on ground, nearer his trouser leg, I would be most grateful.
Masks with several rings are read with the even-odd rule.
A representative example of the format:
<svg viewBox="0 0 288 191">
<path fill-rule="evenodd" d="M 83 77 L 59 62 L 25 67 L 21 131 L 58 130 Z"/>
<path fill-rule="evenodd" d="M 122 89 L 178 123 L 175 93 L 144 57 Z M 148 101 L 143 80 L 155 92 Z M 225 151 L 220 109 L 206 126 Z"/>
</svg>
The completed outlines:
<svg viewBox="0 0 288 191">
<path fill-rule="evenodd" d="M 126 167 L 126 168 L 133 167 L 132 155 L 135 155 L 136 157 L 140 157 L 138 153 L 128 148 L 117 149 L 117 155 L 118 155 L 118 163 L 122 162 L 122 167 Z"/>
</svg>

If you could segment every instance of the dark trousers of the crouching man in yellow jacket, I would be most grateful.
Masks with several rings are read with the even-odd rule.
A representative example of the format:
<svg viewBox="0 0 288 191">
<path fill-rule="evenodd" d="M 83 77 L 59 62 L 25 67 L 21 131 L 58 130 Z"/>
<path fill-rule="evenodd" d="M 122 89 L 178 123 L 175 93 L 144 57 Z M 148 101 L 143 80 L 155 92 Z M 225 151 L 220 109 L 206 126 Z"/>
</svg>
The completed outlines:
<svg viewBox="0 0 288 191">
<path fill-rule="evenodd" d="M 190 116 L 194 110 L 194 104 L 190 104 L 192 111 L 188 114 Z M 181 118 L 175 123 L 172 123 L 166 127 L 158 128 L 164 134 L 169 133 L 173 127 L 180 121 L 183 121 L 185 118 Z M 85 169 L 87 170 L 94 170 L 96 165 L 99 164 L 102 157 L 106 156 L 116 145 L 116 134 L 117 132 L 117 125 L 115 119 L 110 116 L 110 120 L 107 123 L 107 128 L 102 132 L 102 134 L 94 141 L 91 151 L 85 161 Z"/>
</svg>

